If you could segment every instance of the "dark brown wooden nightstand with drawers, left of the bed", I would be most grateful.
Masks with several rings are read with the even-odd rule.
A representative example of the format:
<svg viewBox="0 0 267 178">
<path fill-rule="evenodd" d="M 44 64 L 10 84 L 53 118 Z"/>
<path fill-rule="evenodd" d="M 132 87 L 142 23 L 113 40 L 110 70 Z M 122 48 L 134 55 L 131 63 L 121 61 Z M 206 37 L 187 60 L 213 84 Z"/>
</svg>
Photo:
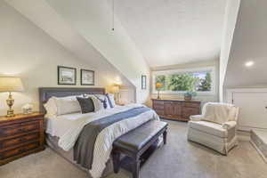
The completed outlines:
<svg viewBox="0 0 267 178">
<path fill-rule="evenodd" d="M 44 150 L 44 114 L 0 117 L 0 166 Z"/>
</svg>

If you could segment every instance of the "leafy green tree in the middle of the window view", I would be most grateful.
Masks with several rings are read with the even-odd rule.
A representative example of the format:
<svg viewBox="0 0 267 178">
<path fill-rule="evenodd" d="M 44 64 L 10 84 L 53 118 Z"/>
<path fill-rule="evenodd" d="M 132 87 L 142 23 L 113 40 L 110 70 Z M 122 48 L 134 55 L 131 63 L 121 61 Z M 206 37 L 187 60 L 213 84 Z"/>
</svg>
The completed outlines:
<svg viewBox="0 0 267 178">
<path fill-rule="evenodd" d="M 196 77 L 193 74 L 176 74 L 169 76 L 168 90 L 170 91 L 194 91 Z"/>
</svg>

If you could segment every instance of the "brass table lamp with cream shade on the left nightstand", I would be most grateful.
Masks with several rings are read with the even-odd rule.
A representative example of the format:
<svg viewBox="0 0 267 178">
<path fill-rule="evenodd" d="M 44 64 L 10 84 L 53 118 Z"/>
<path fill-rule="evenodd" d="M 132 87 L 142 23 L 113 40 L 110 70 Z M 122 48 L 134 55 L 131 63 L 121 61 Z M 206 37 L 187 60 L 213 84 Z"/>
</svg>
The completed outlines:
<svg viewBox="0 0 267 178">
<path fill-rule="evenodd" d="M 12 105 L 14 99 L 12 99 L 12 92 L 22 92 L 24 90 L 22 82 L 19 77 L 0 77 L 0 92 L 8 92 L 8 99 L 6 103 L 9 107 L 6 117 L 14 117 L 14 110 Z"/>
</svg>

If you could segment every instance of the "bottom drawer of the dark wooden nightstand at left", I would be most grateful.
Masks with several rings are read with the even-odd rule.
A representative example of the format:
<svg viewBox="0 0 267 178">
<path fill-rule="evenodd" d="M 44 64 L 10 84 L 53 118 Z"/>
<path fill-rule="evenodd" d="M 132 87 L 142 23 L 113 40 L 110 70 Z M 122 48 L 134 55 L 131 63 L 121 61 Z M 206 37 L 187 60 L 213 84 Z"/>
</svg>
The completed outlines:
<svg viewBox="0 0 267 178">
<path fill-rule="evenodd" d="M 4 152 L 0 153 L 0 158 L 5 159 L 5 158 L 12 158 L 17 155 L 20 155 L 24 152 L 27 152 L 28 150 L 34 150 L 39 147 L 40 143 L 39 142 L 32 142 L 27 145 L 24 145 L 20 148 L 13 149 L 13 150 L 5 150 Z"/>
</svg>

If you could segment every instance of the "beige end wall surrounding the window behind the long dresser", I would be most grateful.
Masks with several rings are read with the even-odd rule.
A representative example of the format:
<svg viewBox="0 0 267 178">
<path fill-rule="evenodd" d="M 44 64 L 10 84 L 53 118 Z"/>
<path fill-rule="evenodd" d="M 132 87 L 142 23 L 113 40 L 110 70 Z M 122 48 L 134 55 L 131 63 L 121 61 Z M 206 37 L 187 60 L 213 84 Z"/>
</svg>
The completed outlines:
<svg viewBox="0 0 267 178">
<path fill-rule="evenodd" d="M 166 66 L 166 67 L 158 67 L 153 68 L 151 71 L 160 71 L 160 70 L 168 70 L 168 69 L 198 69 L 198 68 L 205 68 L 205 67 L 214 67 L 215 69 L 215 84 L 214 84 L 214 94 L 198 94 L 195 98 L 198 101 L 202 101 L 202 104 L 206 101 L 219 101 L 219 60 L 211 60 L 211 61 L 201 61 L 201 62 L 193 62 L 193 63 L 186 63 L 181 65 L 173 65 L 173 66 Z M 150 81 L 150 84 L 153 82 Z M 157 94 L 152 93 L 152 86 L 151 88 L 151 98 L 157 98 Z M 166 94 L 161 93 L 161 98 L 170 98 L 170 99 L 183 99 L 183 93 L 174 93 L 174 94 Z M 148 105 L 151 106 L 151 101 L 148 102 Z"/>
</svg>

